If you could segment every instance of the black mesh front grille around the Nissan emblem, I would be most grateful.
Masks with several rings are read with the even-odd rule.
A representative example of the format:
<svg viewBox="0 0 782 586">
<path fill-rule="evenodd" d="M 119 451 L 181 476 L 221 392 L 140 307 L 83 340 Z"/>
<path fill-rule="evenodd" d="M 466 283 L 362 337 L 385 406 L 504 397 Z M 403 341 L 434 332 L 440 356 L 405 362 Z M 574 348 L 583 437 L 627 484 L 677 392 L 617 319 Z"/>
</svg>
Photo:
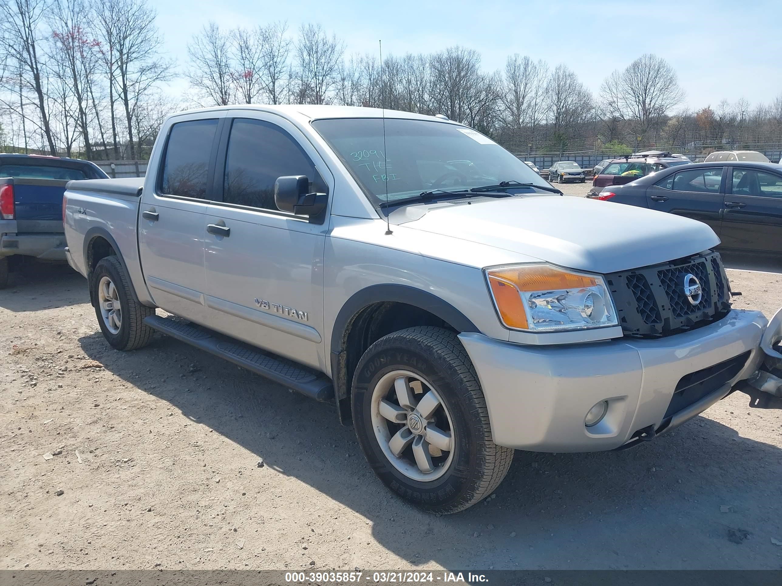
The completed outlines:
<svg viewBox="0 0 782 586">
<path fill-rule="evenodd" d="M 684 295 L 684 277 L 701 283 L 693 305 Z M 659 338 L 722 319 L 730 311 L 728 280 L 722 259 L 708 251 L 669 263 L 606 275 L 625 334 Z"/>
</svg>

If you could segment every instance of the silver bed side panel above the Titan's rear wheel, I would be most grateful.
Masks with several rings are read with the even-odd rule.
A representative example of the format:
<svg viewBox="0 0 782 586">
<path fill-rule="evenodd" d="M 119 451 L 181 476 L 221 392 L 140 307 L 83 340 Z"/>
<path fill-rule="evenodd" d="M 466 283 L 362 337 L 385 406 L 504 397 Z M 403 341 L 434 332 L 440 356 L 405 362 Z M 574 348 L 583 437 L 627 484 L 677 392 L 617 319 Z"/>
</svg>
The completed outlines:
<svg viewBox="0 0 782 586">
<path fill-rule="evenodd" d="M 102 238 L 114 248 L 142 303 L 151 303 L 138 259 L 138 206 L 143 177 L 70 181 L 65 192 L 65 236 L 70 266 L 89 277 Z"/>
</svg>

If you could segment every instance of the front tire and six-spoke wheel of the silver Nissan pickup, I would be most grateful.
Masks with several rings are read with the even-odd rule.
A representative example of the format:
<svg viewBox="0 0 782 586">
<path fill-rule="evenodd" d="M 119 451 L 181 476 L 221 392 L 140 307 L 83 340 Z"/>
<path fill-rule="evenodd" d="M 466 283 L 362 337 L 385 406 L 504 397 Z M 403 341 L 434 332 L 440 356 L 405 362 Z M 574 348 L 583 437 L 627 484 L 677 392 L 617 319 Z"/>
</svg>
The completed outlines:
<svg viewBox="0 0 782 586">
<path fill-rule="evenodd" d="M 514 451 L 492 441 L 475 368 L 451 331 L 411 327 L 380 338 L 357 365 L 351 405 L 382 483 L 431 513 L 486 498 L 511 466 Z"/>
</svg>

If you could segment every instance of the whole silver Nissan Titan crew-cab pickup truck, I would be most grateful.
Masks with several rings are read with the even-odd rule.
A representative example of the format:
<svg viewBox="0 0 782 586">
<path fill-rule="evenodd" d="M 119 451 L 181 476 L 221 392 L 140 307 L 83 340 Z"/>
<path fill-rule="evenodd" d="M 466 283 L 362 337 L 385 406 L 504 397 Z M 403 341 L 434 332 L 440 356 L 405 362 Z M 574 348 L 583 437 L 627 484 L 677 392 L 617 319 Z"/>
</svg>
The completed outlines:
<svg viewBox="0 0 782 586">
<path fill-rule="evenodd" d="M 170 116 L 145 179 L 69 184 L 65 232 L 110 345 L 160 331 L 332 402 L 436 513 L 490 495 L 515 449 L 628 448 L 782 382 L 762 370 L 782 316 L 731 309 L 711 228 L 562 197 L 442 116 Z"/>
</svg>

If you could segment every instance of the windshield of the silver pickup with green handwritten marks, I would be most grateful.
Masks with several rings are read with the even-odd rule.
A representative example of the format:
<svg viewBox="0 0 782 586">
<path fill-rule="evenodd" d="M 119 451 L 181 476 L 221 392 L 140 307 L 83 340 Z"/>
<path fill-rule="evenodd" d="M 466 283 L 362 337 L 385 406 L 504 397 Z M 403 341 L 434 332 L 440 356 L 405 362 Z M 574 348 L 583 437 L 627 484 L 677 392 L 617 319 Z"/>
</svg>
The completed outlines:
<svg viewBox="0 0 782 586">
<path fill-rule="evenodd" d="M 483 134 L 451 123 L 386 118 L 315 120 L 375 205 L 422 191 L 457 191 L 516 180 L 547 184 L 523 161 Z"/>
</svg>

